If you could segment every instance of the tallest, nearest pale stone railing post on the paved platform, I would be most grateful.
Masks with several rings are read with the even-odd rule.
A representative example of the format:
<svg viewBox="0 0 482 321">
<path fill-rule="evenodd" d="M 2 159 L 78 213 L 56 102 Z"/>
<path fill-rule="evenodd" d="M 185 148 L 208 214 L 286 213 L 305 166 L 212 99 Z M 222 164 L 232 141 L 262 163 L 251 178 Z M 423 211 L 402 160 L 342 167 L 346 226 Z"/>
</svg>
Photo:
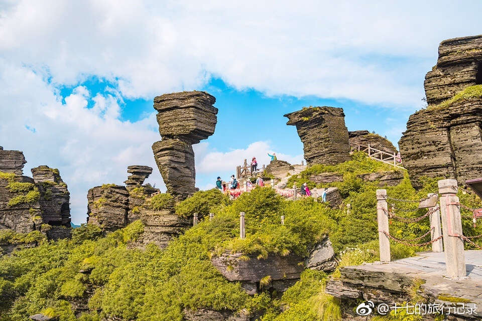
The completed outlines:
<svg viewBox="0 0 482 321">
<path fill-rule="evenodd" d="M 466 276 L 465 253 L 463 252 L 462 220 L 459 199 L 456 196 L 456 180 L 438 181 L 440 212 L 442 214 L 443 244 L 445 246 L 445 267 L 448 277 Z"/>
</svg>

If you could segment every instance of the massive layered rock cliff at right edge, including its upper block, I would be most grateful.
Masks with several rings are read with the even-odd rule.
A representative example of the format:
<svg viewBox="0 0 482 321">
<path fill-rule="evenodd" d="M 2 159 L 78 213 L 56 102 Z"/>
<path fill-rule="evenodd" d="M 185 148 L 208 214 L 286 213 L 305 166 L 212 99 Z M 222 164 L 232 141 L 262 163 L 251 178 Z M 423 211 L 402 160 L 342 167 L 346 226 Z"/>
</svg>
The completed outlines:
<svg viewBox="0 0 482 321">
<path fill-rule="evenodd" d="M 456 179 L 459 184 L 482 177 L 482 36 L 450 39 L 427 73 L 429 106 L 411 115 L 399 141 L 403 165 L 415 188 L 421 176 Z M 464 89 L 459 99 L 436 105 Z"/>
</svg>

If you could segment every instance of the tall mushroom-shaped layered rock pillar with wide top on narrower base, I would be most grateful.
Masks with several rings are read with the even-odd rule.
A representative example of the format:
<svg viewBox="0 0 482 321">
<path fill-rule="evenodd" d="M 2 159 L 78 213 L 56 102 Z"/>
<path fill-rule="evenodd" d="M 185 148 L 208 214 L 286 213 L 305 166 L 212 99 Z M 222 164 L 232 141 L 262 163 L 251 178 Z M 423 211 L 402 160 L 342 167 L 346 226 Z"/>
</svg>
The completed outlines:
<svg viewBox="0 0 482 321">
<path fill-rule="evenodd" d="M 152 145 L 167 191 L 177 200 L 194 194 L 196 172 L 192 144 L 214 133 L 216 98 L 202 91 L 164 94 L 154 98 L 162 140 Z"/>
</svg>

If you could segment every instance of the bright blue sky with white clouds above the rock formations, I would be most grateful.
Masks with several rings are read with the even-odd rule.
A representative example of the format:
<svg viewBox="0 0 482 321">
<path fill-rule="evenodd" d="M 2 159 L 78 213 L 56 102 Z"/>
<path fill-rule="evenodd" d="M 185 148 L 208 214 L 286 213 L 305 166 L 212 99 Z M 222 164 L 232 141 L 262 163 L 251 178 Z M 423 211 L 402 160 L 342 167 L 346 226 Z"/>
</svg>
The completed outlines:
<svg viewBox="0 0 482 321">
<path fill-rule="evenodd" d="M 165 189 L 151 150 L 164 93 L 216 97 L 216 131 L 194 146 L 201 189 L 244 158 L 301 162 L 283 115 L 304 106 L 342 107 L 348 130 L 397 145 L 439 43 L 480 34 L 481 11 L 475 0 L 0 1 L 0 145 L 24 152 L 25 175 L 60 170 L 76 224 L 87 190 L 123 184 L 129 165 L 153 167 L 148 182 Z"/>
</svg>

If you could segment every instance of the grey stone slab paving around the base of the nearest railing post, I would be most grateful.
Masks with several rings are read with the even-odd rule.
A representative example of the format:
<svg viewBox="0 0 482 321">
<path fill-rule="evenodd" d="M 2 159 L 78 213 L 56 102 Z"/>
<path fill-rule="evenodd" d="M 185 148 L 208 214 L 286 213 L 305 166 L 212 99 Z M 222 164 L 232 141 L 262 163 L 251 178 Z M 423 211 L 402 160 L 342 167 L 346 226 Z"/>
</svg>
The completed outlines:
<svg viewBox="0 0 482 321">
<path fill-rule="evenodd" d="M 482 251 L 465 251 L 467 275 L 454 279 L 446 277 L 444 253 L 421 252 L 417 256 L 393 262 L 375 262 L 360 266 L 351 266 L 370 272 L 380 272 L 389 276 L 391 273 L 402 274 L 409 278 L 425 280 L 421 286 L 434 297 L 450 296 L 463 298 L 475 303 L 477 311 L 473 316 L 482 317 Z M 437 299 L 435 302 L 444 303 Z"/>
</svg>

